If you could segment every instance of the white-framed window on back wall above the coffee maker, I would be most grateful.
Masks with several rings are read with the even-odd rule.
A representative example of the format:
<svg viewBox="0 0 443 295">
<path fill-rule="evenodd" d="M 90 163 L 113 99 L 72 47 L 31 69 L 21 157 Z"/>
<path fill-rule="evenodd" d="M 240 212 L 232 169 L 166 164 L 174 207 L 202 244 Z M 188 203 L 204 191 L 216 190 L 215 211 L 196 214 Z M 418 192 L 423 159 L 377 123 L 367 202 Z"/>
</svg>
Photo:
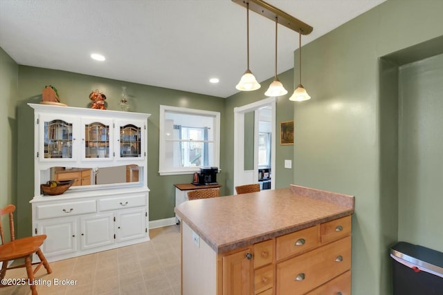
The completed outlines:
<svg viewBox="0 0 443 295">
<path fill-rule="evenodd" d="M 160 175 L 190 174 L 219 166 L 220 113 L 160 106 Z"/>
</svg>

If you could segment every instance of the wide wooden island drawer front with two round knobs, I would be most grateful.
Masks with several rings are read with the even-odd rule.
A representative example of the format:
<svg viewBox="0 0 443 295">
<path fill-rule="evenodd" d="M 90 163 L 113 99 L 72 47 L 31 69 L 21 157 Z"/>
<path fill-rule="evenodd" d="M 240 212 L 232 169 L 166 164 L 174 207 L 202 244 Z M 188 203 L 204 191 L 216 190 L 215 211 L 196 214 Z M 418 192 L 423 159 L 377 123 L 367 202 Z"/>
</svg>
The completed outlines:
<svg viewBox="0 0 443 295">
<path fill-rule="evenodd" d="M 277 294 L 305 294 L 350 268 L 351 237 L 347 236 L 278 263 Z"/>
</svg>

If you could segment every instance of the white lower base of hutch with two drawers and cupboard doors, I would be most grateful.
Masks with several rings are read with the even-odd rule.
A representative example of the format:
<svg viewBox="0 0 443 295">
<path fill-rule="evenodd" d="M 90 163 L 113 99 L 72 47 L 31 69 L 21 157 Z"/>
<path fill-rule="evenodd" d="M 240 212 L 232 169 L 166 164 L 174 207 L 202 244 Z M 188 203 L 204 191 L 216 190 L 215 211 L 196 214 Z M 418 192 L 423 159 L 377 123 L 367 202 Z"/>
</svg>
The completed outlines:
<svg viewBox="0 0 443 295">
<path fill-rule="evenodd" d="M 31 203 L 33 234 L 46 234 L 42 251 L 48 261 L 150 240 L 149 189 L 102 190 L 98 196 L 91 193 L 41 196 Z M 39 261 L 36 255 L 33 260 Z"/>
</svg>

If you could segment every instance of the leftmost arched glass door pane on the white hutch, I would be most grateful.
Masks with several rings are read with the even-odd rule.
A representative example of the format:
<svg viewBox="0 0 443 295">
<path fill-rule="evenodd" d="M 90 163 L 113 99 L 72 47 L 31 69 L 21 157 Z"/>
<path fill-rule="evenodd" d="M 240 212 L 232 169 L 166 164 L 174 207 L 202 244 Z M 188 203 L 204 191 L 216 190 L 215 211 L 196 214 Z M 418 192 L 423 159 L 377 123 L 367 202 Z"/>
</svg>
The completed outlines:
<svg viewBox="0 0 443 295">
<path fill-rule="evenodd" d="M 65 120 L 42 120 L 43 144 L 40 153 L 44 159 L 73 159 L 73 123 Z M 42 130 L 42 129 L 40 129 Z"/>
</svg>

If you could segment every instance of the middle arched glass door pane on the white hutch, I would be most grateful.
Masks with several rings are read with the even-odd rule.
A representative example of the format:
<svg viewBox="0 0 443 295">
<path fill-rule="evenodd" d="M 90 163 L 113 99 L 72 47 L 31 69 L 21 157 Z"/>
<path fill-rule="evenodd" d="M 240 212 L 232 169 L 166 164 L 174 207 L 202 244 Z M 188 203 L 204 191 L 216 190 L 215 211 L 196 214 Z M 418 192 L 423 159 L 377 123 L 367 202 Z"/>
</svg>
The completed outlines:
<svg viewBox="0 0 443 295">
<path fill-rule="evenodd" d="M 109 129 L 111 124 L 92 122 L 84 124 L 84 158 L 109 158 Z"/>
</svg>

